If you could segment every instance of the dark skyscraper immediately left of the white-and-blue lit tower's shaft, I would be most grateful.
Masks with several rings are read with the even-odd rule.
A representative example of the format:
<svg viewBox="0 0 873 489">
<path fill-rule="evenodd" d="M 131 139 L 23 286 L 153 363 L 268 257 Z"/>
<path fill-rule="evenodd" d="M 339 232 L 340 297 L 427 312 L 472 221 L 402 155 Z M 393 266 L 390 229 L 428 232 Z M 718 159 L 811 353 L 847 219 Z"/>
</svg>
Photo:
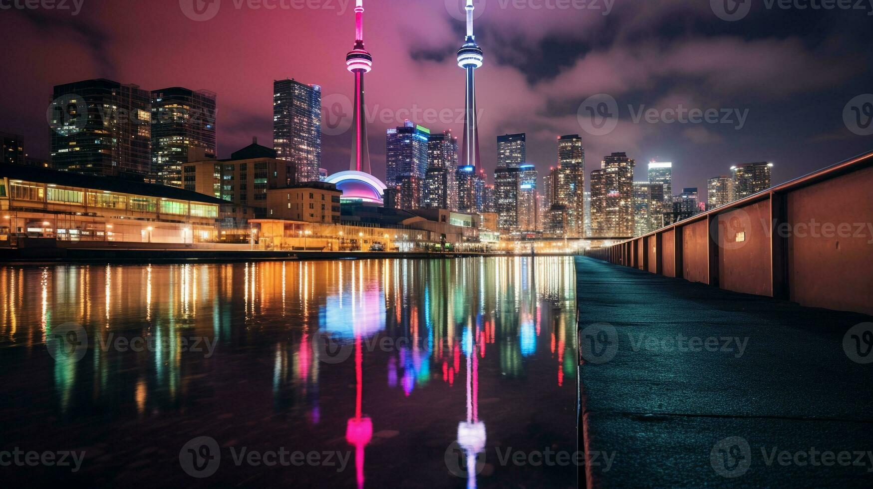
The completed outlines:
<svg viewBox="0 0 873 489">
<path fill-rule="evenodd" d="M 457 210 L 456 177 L 457 138 L 451 135 L 451 131 L 430 134 L 424 206 Z"/>
</svg>

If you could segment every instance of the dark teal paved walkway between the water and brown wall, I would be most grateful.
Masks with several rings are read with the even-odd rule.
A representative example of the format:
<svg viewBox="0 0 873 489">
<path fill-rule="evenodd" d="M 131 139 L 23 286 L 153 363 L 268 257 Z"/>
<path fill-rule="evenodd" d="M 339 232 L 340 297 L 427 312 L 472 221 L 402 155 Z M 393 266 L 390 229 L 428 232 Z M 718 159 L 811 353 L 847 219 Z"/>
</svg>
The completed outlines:
<svg viewBox="0 0 873 489">
<path fill-rule="evenodd" d="M 589 487 L 873 486 L 873 334 L 849 332 L 873 318 L 593 258 L 576 273 Z"/>
</svg>

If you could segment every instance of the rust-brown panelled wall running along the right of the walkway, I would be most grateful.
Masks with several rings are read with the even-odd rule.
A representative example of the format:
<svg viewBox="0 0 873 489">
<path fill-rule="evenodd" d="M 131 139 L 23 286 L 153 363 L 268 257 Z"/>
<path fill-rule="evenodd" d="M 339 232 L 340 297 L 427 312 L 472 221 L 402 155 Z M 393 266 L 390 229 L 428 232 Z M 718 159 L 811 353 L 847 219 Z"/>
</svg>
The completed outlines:
<svg viewBox="0 0 873 489">
<path fill-rule="evenodd" d="M 873 314 L 871 189 L 873 153 L 586 254 L 801 306 Z"/>
</svg>

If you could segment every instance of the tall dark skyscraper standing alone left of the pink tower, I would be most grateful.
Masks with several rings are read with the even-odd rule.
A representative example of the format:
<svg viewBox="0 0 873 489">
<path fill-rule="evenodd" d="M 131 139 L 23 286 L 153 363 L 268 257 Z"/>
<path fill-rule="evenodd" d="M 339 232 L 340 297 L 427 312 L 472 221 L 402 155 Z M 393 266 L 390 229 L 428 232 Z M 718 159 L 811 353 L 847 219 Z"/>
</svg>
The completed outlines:
<svg viewBox="0 0 873 489">
<path fill-rule="evenodd" d="M 321 87 L 273 81 L 273 148 L 292 162 L 298 182 L 318 182 L 321 166 Z"/>
</svg>

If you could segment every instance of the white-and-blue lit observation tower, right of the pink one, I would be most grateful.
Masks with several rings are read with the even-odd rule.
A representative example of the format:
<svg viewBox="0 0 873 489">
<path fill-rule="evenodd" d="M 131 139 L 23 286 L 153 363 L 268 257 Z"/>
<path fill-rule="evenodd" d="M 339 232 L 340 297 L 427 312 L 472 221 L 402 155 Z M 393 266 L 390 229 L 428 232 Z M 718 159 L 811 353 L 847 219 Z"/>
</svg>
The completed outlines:
<svg viewBox="0 0 873 489">
<path fill-rule="evenodd" d="M 461 151 L 461 164 L 457 169 L 458 210 L 478 212 L 482 210 L 482 196 L 478 189 L 479 127 L 476 121 L 476 68 L 482 65 L 482 49 L 476 44 L 473 35 L 473 0 L 467 0 L 467 37 L 457 52 L 457 65 L 464 68 L 467 75 L 466 100 L 464 102 L 464 148 Z"/>
</svg>

